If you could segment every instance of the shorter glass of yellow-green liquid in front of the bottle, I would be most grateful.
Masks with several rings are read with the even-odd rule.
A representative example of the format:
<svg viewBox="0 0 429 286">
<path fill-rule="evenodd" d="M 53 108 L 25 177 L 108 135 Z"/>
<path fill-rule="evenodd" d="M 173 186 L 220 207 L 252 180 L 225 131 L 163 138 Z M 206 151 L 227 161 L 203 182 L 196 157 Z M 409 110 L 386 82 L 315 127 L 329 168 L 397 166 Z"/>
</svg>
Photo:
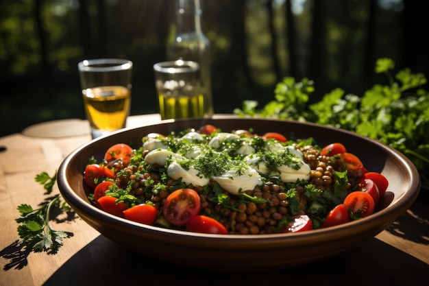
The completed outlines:
<svg viewBox="0 0 429 286">
<path fill-rule="evenodd" d="M 155 86 L 161 119 L 209 117 L 201 93 L 197 62 L 175 60 L 154 64 Z"/>
</svg>

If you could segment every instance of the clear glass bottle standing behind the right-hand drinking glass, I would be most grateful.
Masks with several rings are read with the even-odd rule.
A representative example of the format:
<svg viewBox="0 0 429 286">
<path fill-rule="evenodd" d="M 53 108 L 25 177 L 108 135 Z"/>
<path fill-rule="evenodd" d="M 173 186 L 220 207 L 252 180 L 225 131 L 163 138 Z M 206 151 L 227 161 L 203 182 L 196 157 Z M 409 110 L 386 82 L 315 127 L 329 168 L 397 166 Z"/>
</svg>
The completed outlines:
<svg viewBox="0 0 429 286">
<path fill-rule="evenodd" d="M 201 67 L 201 93 L 204 117 L 212 117 L 210 42 L 201 29 L 201 1 L 176 0 L 176 34 L 167 43 L 168 60 L 193 60 Z"/>
</svg>

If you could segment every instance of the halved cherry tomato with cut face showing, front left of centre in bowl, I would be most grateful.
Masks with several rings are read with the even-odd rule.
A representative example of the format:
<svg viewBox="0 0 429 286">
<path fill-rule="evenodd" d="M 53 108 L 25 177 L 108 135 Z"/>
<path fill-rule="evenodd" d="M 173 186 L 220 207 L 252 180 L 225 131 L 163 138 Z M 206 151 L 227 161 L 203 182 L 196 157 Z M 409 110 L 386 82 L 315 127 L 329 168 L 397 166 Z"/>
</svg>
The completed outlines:
<svg viewBox="0 0 429 286">
<path fill-rule="evenodd" d="M 169 194 L 162 209 L 165 219 L 175 226 L 184 226 L 189 217 L 199 215 L 201 202 L 193 189 L 178 189 Z"/>
</svg>

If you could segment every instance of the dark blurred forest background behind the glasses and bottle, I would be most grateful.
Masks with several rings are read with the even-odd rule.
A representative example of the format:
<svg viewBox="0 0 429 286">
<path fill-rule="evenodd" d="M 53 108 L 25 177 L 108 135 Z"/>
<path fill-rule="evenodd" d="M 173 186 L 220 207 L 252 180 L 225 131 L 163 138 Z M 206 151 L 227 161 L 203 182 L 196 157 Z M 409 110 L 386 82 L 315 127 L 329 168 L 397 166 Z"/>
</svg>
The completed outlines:
<svg viewBox="0 0 429 286">
<path fill-rule="evenodd" d="M 286 3 L 293 11 L 293 43 Z M 317 3 L 322 9 L 315 10 Z M 378 4 L 372 60 L 365 60 L 369 3 Z M 85 58 L 133 60 L 132 115 L 157 112 L 152 66 L 164 60 L 174 34 L 173 6 L 173 0 L 1 1 L 0 120 L 14 117 L 1 134 L 39 121 L 83 118 L 77 62 Z M 215 112 L 230 113 L 244 100 L 264 104 L 279 78 L 289 75 L 315 80 L 319 97 L 334 87 L 363 91 L 378 80 L 367 76 L 365 62 L 389 57 L 402 64 L 402 8 L 402 0 L 204 1 Z M 323 29 L 312 24 L 320 16 Z M 317 49 L 315 39 L 322 40 Z M 323 61 L 313 64 L 318 50 Z"/>
</svg>

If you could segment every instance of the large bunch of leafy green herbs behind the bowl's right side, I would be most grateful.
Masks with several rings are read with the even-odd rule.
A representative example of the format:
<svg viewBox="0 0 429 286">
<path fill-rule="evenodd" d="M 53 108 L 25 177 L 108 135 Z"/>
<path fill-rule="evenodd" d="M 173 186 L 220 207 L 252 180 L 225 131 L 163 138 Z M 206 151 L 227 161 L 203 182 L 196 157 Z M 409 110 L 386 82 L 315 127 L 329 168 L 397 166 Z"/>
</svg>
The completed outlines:
<svg viewBox="0 0 429 286">
<path fill-rule="evenodd" d="M 241 117 L 295 119 L 356 132 L 385 143 L 407 156 L 429 186 L 429 93 L 422 73 L 410 69 L 393 76 L 395 62 L 380 58 L 376 73 L 387 75 L 387 84 L 376 84 L 363 95 L 336 88 L 309 104 L 315 92 L 308 78 L 297 82 L 284 78 L 275 86 L 275 99 L 258 109 L 258 102 L 245 101 L 234 113 Z"/>
</svg>

